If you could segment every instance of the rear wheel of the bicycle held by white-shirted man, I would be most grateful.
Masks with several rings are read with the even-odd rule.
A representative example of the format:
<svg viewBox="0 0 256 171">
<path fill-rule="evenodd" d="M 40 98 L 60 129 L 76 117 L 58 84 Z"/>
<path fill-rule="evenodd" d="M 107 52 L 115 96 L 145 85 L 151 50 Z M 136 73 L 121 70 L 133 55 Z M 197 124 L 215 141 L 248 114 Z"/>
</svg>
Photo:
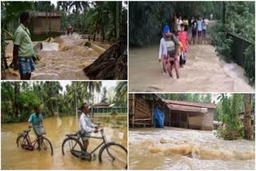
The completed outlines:
<svg viewBox="0 0 256 171">
<path fill-rule="evenodd" d="M 75 137 L 67 137 L 62 143 L 62 154 L 71 153 L 71 150 L 82 151 L 83 145 Z"/>
</svg>

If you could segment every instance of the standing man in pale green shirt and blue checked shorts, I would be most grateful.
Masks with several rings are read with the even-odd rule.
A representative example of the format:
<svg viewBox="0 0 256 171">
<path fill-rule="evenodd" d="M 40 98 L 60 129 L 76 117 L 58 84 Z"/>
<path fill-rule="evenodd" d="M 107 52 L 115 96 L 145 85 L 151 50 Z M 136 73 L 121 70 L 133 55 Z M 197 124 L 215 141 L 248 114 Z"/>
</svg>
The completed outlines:
<svg viewBox="0 0 256 171">
<path fill-rule="evenodd" d="M 14 70 L 18 70 L 21 80 L 30 80 L 31 72 L 34 71 L 34 48 L 30 38 L 30 14 L 20 15 L 21 24 L 14 33 L 13 64 Z"/>
</svg>

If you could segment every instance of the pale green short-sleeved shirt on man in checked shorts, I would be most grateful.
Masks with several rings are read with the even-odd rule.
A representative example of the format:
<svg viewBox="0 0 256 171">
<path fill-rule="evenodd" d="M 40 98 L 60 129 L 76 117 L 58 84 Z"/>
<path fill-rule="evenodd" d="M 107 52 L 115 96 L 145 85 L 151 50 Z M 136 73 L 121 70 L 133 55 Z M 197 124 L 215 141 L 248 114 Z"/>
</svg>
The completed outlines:
<svg viewBox="0 0 256 171">
<path fill-rule="evenodd" d="M 20 24 L 14 33 L 14 45 L 18 46 L 18 57 L 32 58 L 34 48 L 30 38 L 30 30 Z"/>
</svg>

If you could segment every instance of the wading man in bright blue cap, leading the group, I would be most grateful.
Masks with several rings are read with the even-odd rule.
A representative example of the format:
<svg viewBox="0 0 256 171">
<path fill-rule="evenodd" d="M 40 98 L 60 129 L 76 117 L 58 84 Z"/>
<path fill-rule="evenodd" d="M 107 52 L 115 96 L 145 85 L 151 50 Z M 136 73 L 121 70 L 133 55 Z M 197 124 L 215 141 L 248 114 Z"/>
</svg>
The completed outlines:
<svg viewBox="0 0 256 171">
<path fill-rule="evenodd" d="M 170 77 L 172 75 L 172 68 L 176 70 L 176 76 L 179 78 L 178 74 L 178 38 L 174 34 L 170 33 L 170 27 L 164 26 L 163 28 L 163 38 L 160 41 L 159 46 L 159 62 L 162 61 L 162 69 L 164 74 L 168 72 Z"/>
</svg>

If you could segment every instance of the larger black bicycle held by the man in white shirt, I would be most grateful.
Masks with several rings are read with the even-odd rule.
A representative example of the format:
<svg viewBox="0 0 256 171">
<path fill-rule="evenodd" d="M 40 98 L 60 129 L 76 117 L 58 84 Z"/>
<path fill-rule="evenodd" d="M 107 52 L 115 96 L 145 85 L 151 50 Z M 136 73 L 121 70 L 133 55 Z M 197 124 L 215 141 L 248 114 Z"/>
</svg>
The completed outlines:
<svg viewBox="0 0 256 171">
<path fill-rule="evenodd" d="M 71 153 L 75 157 L 91 161 L 92 154 L 102 146 L 98 152 L 98 161 L 105 162 L 110 160 L 113 165 L 121 165 L 120 167 L 127 169 L 127 149 L 113 141 L 107 142 L 103 129 L 100 129 L 100 133 L 101 137 L 86 136 L 94 139 L 102 139 L 102 143 L 90 153 L 85 151 L 80 131 L 74 134 L 66 134 L 66 138 L 62 142 L 62 154 Z"/>
</svg>

